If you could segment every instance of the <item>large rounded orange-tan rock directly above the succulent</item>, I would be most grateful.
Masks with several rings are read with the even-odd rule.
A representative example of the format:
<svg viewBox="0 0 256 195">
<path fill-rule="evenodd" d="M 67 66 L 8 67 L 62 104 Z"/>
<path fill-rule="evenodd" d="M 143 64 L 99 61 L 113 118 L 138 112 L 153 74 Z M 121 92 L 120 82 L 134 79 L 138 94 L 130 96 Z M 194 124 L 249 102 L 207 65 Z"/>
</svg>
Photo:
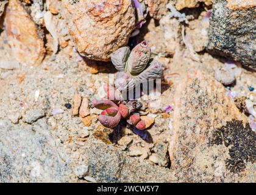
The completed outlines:
<svg viewBox="0 0 256 195">
<path fill-rule="evenodd" d="M 108 61 L 124 46 L 135 27 L 131 0 L 63 1 L 69 33 L 77 51 L 88 59 Z"/>
</svg>

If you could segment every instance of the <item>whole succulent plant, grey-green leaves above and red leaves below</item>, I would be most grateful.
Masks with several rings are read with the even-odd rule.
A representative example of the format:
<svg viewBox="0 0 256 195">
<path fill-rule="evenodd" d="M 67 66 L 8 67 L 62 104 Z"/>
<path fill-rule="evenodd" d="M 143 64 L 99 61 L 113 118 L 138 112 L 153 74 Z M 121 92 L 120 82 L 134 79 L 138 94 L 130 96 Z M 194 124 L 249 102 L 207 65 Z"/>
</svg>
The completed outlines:
<svg viewBox="0 0 256 195">
<path fill-rule="evenodd" d="M 124 100 L 119 91 L 131 90 L 149 79 L 161 79 L 162 65 L 151 59 L 151 50 L 146 41 L 142 41 L 132 51 L 127 47 L 119 48 L 112 54 L 111 60 L 118 70 L 115 77 L 118 90 L 105 84 L 103 88 L 107 97 L 93 100 L 94 107 L 102 110 L 99 122 L 113 129 L 121 119 L 126 119 L 135 129 L 144 130 L 148 127 L 147 122 L 137 113 L 141 104 L 137 100 Z"/>
</svg>

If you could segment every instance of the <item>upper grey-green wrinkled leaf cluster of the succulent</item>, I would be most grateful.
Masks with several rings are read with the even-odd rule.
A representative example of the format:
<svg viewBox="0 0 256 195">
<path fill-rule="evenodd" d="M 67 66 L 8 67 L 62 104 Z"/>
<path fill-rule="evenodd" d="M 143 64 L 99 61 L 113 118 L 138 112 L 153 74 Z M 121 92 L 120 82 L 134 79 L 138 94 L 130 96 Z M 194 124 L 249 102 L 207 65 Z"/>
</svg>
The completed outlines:
<svg viewBox="0 0 256 195">
<path fill-rule="evenodd" d="M 163 74 L 162 65 L 151 59 L 151 49 L 146 41 L 130 51 L 129 48 L 119 48 L 111 55 L 111 60 L 118 73 L 115 77 L 115 87 L 118 90 L 131 90 L 149 79 L 160 79 Z"/>
</svg>

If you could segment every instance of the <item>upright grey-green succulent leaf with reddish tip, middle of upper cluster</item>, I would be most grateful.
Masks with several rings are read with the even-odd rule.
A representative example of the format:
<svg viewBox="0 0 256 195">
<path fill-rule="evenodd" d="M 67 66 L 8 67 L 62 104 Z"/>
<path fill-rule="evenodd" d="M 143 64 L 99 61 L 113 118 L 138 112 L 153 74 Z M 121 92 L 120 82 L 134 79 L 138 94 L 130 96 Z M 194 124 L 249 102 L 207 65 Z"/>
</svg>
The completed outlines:
<svg viewBox="0 0 256 195">
<path fill-rule="evenodd" d="M 127 70 L 131 74 L 140 74 L 148 65 L 150 57 L 151 50 L 146 41 L 142 41 L 130 52 L 130 56 L 127 60 Z"/>
</svg>

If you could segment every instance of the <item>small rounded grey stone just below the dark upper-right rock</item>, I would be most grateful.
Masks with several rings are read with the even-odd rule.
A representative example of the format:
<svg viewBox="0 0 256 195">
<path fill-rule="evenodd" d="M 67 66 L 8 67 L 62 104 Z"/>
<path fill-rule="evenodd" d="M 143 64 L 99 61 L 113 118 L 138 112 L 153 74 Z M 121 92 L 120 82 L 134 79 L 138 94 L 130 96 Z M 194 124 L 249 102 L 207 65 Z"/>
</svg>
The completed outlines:
<svg viewBox="0 0 256 195">
<path fill-rule="evenodd" d="M 233 71 L 227 69 L 216 69 L 215 79 L 223 85 L 230 85 L 235 82 L 235 74 Z"/>
</svg>

